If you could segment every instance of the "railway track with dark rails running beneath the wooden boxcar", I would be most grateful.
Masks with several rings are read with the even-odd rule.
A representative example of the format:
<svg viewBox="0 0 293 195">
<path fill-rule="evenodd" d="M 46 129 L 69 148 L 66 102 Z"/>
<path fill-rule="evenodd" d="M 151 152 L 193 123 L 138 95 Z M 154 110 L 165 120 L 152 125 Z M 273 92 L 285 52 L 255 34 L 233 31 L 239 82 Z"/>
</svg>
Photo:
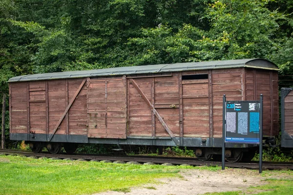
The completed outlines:
<svg viewBox="0 0 293 195">
<path fill-rule="evenodd" d="M 20 150 L 2 150 L 0 149 L 0 154 L 4 155 L 20 155 L 20 156 L 36 156 L 36 157 L 57 157 L 60 159 L 71 158 L 71 159 L 85 159 L 85 160 L 109 160 L 109 161 L 135 161 L 139 163 L 153 162 L 156 164 L 171 163 L 174 165 L 189 164 L 193 166 L 222 166 L 222 162 L 214 161 L 199 161 L 196 158 L 179 158 L 179 157 L 162 157 L 162 156 L 109 156 L 109 155 L 88 155 L 88 154 L 59 154 L 52 155 L 49 153 L 33 153 L 30 151 L 20 151 Z M 258 169 L 258 162 L 246 162 L 246 163 L 229 163 L 225 162 L 226 167 L 233 168 L 249 168 Z M 293 163 L 290 162 L 263 162 L 263 169 L 290 169 L 293 170 Z"/>
</svg>

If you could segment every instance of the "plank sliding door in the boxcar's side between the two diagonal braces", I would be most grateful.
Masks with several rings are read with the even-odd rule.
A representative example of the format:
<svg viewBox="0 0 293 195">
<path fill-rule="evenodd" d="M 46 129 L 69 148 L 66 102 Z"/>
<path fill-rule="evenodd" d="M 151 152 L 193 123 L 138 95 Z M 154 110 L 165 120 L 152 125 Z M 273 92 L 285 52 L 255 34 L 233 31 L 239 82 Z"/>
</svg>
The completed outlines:
<svg viewBox="0 0 293 195">
<path fill-rule="evenodd" d="M 126 79 L 87 81 L 88 137 L 126 138 Z"/>
</svg>

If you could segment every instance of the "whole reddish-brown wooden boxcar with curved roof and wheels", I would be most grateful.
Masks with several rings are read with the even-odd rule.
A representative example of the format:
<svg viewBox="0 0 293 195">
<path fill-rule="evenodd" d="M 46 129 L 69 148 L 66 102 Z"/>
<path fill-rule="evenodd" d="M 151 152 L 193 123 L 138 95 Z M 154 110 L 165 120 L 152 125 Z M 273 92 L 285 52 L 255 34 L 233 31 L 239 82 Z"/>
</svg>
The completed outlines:
<svg viewBox="0 0 293 195">
<path fill-rule="evenodd" d="M 277 71 L 265 59 L 239 59 L 11 78 L 10 139 L 53 153 L 59 143 L 68 151 L 66 143 L 187 146 L 208 159 L 221 154 L 223 94 L 227 100 L 263 94 L 263 134 L 278 134 Z M 234 152 L 226 156 L 249 146 L 228 144 Z"/>
</svg>

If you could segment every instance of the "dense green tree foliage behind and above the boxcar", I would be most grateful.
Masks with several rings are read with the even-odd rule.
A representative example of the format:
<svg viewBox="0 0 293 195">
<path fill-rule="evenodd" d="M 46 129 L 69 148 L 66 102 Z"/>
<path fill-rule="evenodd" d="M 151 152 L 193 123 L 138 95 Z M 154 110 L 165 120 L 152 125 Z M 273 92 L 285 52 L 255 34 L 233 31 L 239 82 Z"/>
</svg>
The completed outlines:
<svg viewBox="0 0 293 195">
<path fill-rule="evenodd" d="M 293 74 L 292 0 L 1 0 L 0 91 L 14 76 L 264 58 Z"/>
</svg>

